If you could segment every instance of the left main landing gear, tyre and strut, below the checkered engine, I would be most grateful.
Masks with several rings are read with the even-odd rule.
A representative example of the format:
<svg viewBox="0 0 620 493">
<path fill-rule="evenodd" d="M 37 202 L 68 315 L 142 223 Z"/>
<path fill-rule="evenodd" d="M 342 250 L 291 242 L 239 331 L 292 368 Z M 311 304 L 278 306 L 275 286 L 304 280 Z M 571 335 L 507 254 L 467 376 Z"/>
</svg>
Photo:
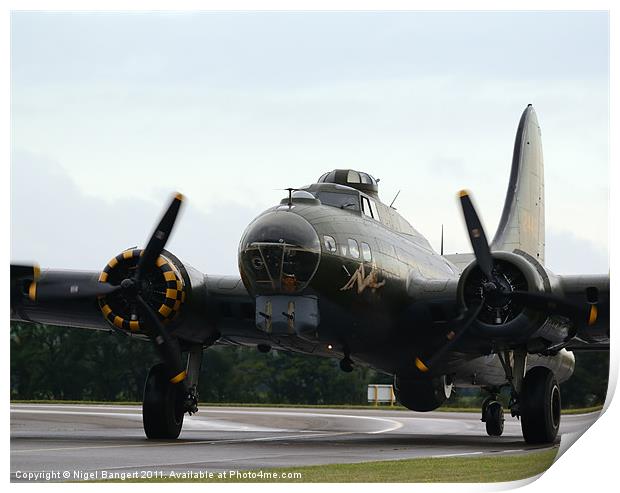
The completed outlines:
<svg viewBox="0 0 620 493">
<path fill-rule="evenodd" d="M 172 383 L 164 363 L 151 368 L 144 385 L 142 424 L 149 439 L 174 440 L 183 427 L 185 413 L 198 411 L 198 376 L 202 347 L 192 348 L 187 359 L 185 381 Z"/>
</svg>

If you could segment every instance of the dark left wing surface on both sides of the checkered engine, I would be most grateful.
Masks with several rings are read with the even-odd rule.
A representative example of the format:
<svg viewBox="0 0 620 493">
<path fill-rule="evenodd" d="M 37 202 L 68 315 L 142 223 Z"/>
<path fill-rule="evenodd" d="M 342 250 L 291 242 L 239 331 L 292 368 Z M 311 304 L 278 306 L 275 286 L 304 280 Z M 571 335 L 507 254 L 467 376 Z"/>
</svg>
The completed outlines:
<svg viewBox="0 0 620 493">
<path fill-rule="evenodd" d="M 266 334 L 256 329 L 255 302 L 239 276 L 205 276 L 183 267 L 186 297 L 178 316 L 169 323 L 160 318 L 177 338 L 188 343 L 260 344 Z M 190 274 L 191 273 L 191 274 Z M 123 307 L 110 295 L 92 292 L 102 273 L 46 269 L 11 265 L 11 320 L 76 327 L 92 330 L 118 330 L 147 338 L 143 330 L 132 330 Z M 114 293 L 112 293 L 112 296 Z M 146 297 L 146 295 L 145 295 Z M 118 301 L 118 300 L 117 300 Z M 147 299 L 155 310 L 159 302 Z M 165 306 L 165 305 L 161 305 Z M 112 312 L 108 312 L 112 307 Z M 131 307 L 128 308 L 131 311 Z M 157 310 L 159 311 L 159 310 Z M 161 310 L 165 312 L 166 310 Z"/>
</svg>

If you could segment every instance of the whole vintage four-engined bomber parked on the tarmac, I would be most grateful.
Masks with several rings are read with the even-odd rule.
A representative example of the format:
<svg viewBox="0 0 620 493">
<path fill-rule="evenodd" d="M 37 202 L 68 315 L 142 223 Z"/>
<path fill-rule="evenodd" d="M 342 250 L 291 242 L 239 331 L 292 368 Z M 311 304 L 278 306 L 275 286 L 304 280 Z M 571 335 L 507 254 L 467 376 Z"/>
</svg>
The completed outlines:
<svg viewBox="0 0 620 493">
<path fill-rule="evenodd" d="M 379 200 L 372 176 L 331 171 L 250 223 L 240 276 L 217 277 L 164 249 L 177 195 L 146 247 L 102 272 L 11 265 L 11 319 L 153 341 L 162 363 L 144 389 L 149 438 L 178 437 L 184 414 L 197 411 L 202 352 L 223 343 L 338 357 L 343 371 L 370 365 L 394 375 L 398 400 L 414 411 L 436 409 L 454 387 L 481 387 L 492 436 L 503 431 L 497 395 L 508 387 L 525 441 L 552 442 L 558 383 L 575 364 L 570 349 L 609 349 L 609 276 L 557 276 L 544 266 L 543 159 L 531 105 L 490 245 L 468 193 L 459 196 L 474 253 L 443 255 Z"/>
</svg>

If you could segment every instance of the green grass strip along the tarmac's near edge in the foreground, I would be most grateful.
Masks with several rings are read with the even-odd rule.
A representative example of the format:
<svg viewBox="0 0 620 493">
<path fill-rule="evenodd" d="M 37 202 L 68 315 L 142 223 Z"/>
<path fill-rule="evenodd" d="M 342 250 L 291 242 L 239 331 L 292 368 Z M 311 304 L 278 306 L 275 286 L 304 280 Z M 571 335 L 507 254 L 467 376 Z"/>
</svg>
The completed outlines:
<svg viewBox="0 0 620 493">
<path fill-rule="evenodd" d="M 213 472 L 211 478 L 183 474 L 158 479 L 129 479 L 128 482 L 206 483 L 492 483 L 516 481 L 545 472 L 557 448 L 542 452 L 494 455 L 492 457 L 445 457 L 287 467 L 231 474 Z"/>
</svg>

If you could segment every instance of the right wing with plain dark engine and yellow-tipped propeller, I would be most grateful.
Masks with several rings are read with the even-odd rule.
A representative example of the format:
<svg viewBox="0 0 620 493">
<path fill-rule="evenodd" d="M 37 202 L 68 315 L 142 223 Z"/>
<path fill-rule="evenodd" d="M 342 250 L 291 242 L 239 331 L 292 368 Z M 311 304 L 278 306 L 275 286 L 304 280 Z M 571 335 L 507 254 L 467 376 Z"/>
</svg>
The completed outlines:
<svg viewBox="0 0 620 493">
<path fill-rule="evenodd" d="M 460 271 L 458 281 L 443 282 L 441 296 L 435 286 L 410 282 L 420 300 L 414 307 L 416 318 L 428 327 L 429 337 L 438 334 L 443 339 L 437 349 L 416 356 L 417 368 L 428 371 L 458 349 L 482 354 L 498 348 L 527 348 L 540 354 L 564 348 L 608 349 L 609 276 L 554 275 L 545 269 L 535 238 L 528 239 L 529 253 L 520 248 L 492 252 L 469 193 L 462 190 L 459 199 L 473 255 L 444 256 Z M 459 302 L 464 307 L 452 318 L 446 318 L 445 309 L 435 310 L 440 315 L 435 317 L 433 305 L 443 308 L 446 302 L 448 307 Z"/>
</svg>

